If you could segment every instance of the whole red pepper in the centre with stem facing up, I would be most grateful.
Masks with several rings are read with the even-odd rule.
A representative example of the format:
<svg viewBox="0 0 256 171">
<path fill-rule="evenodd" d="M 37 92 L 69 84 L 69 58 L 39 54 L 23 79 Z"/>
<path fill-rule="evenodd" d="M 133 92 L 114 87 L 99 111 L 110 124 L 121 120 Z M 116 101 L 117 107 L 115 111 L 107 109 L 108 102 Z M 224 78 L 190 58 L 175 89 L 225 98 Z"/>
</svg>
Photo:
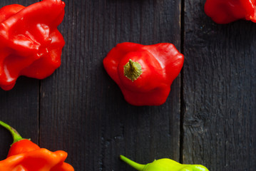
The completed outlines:
<svg viewBox="0 0 256 171">
<path fill-rule="evenodd" d="M 128 103 L 162 105 L 183 61 L 183 54 L 171 43 L 143 46 L 126 42 L 113 48 L 103 65 Z"/>
</svg>

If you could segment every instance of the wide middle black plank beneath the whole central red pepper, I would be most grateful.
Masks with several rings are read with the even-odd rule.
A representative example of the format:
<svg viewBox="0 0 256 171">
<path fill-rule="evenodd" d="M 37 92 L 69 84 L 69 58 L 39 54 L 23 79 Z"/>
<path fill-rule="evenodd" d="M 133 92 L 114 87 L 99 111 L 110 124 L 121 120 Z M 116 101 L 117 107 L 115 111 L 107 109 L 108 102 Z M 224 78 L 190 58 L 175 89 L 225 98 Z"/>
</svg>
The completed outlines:
<svg viewBox="0 0 256 171">
<path fill-rule="evenodd" d="M 62 65 L 41 83 L 41 146 L 66 150 L 75 170 L 130 170 L 121 154 L 179 160 L 180 78 L 164 105 L 135 107 L 102 61 L 123 41 L 180 48 L 180 1 L 65 2 Z"/>
</svg>

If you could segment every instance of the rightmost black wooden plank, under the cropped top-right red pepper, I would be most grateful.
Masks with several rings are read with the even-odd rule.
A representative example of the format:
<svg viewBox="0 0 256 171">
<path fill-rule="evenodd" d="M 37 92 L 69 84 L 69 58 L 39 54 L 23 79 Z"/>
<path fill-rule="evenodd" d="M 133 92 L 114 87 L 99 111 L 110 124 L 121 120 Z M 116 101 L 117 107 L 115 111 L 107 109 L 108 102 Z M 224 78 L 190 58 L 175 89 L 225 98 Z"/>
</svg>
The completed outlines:
<svg viewBox="0 0 256 171">
<path fill-rule="evenodd" d="M 205 1 L 185 1 L 183 162 L 256 168 L 256 25 L 217 25 Z"/>
</svg>

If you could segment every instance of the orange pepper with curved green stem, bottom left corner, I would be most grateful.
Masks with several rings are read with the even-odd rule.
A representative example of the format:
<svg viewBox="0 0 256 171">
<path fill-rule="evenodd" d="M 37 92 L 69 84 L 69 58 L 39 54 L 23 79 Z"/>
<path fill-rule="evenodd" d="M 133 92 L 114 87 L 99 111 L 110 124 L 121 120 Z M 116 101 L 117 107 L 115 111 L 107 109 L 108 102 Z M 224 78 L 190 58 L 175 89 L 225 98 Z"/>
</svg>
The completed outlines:
<svg viewBox="0 0 256 171">
<path fill-rule="evenodd" d="M 0 161 L 0 170 L 5 171 L 73 171 L 73 167 L 64 162 L 67 152 L 58 150 L 51 152 L 40 148 L 31 140 L 21 135 L 11 126 L 0 120 L 0 125 L 11 132 L 14 143 L 5 160 Z"/>
</svg>

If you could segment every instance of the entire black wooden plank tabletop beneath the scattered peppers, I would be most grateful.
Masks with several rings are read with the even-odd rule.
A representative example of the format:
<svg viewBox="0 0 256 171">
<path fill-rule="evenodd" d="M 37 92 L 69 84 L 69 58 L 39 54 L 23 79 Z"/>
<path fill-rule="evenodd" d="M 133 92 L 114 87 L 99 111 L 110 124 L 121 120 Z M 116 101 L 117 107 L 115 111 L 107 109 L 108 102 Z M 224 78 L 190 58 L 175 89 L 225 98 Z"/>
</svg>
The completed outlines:
<svg viewBox="0 0 256 171">
<path fill-rule="evenodd" d="M 61 67 L 0 90 L 1 120 L 75 170 L 133 170 L 168 157 L 211 171 L 256 170 L 256 24 L 215 24 L 205 0 L 64 0 Z M 0 6 L 36 0 L 1 0 Z M 103 68 L 117 43 L 173 43 L 185 55 L 165 104 L 136 107 Z M 11 135 L 0 128 L 4 160 Z"/>
</svg>

